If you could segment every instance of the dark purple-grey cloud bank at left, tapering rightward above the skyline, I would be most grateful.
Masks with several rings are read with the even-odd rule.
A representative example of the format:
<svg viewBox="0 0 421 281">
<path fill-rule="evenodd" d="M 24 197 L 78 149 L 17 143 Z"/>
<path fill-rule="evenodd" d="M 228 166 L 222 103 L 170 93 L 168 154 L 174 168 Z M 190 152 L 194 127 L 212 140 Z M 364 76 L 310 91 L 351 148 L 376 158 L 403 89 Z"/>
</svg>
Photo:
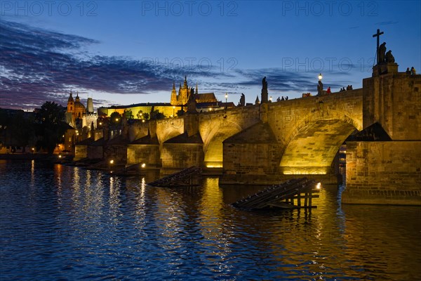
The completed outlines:
<svg viewBox="0 0 421 281">
<path fill-rule="evenodd" d="M 215 70 L 188 69 L 149 60 L 89 55 L 100 42 L 0 20 L 0 107 L 62 103 L 69 89 L 107 93 L 168 91 L 185 74 L 213 77 Z M 216 73 L 218 74 L 218 73 Z M 220 73 L 218 75 L 227 76 Z"/>
</svg>

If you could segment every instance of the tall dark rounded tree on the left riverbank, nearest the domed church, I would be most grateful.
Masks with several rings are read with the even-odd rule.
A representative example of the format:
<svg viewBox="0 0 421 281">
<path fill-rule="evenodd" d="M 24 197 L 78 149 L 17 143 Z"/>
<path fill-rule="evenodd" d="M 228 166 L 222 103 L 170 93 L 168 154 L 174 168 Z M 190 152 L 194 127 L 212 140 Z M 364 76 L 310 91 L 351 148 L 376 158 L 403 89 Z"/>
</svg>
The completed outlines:
<svg viewBox="0 0 421 281">
<path fill-rule="evenodd" d="M 38 141 L 36 147 L 44 148 L 48 154 L 52 155 L 55 147 L 63 143 L 63 136 L 67 129 L 67 124 L 63 122 L 65 110 L 57 103 L 47 101 L 36 112 L 36 136 Z"/>
</svg>

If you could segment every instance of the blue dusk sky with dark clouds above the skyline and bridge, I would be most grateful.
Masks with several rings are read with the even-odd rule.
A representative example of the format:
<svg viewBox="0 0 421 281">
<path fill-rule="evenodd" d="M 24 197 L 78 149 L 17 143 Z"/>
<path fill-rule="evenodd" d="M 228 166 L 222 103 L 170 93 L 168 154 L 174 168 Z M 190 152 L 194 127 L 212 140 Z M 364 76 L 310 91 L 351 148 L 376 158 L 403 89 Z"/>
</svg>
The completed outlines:
<svg viewBox="0 0 421 281">
<path fill-rule="evenodd" d="M 421 70 L 420 1 L 1 1 L 0 107 L 169 102 L 199 93 L 246 102 L 338 91 L 370 77 L 377 28 L 399 71 Z"/>
</svg>

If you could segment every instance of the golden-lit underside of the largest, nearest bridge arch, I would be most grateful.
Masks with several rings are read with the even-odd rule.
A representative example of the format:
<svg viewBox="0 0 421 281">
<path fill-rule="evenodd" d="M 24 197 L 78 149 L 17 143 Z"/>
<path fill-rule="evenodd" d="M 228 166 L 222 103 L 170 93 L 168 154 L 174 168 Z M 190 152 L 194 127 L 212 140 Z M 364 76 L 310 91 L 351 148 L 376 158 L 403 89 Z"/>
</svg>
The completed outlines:
<svg viewBox="0 0 421 281">
<path fill-rule="evenodd" d="M 340 145 L 355 129 L 361 130 L 361 123 L 337 110 L 306 115 L 286 138 L 281 174 L 328 174 Z"/>
</svg>

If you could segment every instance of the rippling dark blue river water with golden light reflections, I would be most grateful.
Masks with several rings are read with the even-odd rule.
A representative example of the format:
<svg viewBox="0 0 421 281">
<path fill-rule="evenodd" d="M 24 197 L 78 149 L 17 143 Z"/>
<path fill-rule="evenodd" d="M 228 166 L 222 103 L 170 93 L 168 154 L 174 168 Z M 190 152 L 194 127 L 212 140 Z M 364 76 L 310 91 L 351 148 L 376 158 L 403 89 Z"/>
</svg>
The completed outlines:
<svg viewBox="0 0 421 281">
<path fill-rule="evenodd" d="M 0 280 L 420 280 L 421 208 L 246 211 L 255 191 L 0 161 Z"/>
</svg>

